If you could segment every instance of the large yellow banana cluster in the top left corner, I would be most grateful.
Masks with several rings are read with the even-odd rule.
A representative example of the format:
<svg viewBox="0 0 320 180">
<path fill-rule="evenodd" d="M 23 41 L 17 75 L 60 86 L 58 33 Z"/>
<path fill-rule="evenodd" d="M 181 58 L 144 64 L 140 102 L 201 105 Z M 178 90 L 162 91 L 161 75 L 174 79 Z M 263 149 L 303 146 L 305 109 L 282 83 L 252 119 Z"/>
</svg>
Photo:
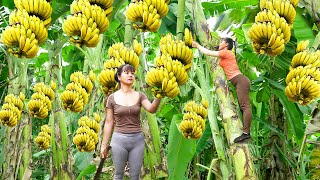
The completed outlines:
<svg viewBox="0 0 320 180">
<path fill-rule="evenodd" d="M 14 0 L 16 9 L 2 34 L 8 52 L 18 58 L 33 58 L 48 37 L 52 8 L 46 0 Z"/>
</svg>

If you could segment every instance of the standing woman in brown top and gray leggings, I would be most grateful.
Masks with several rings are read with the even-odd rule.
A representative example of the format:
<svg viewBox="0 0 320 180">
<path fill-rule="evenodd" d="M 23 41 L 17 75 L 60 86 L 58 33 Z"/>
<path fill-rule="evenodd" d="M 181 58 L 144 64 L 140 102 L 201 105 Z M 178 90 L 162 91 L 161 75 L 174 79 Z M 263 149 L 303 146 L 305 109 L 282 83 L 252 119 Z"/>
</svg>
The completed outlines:
<svg viewBox="0 0 320 180">
<path fill-rule="evenodd" d="M 160 103 L 157 98 L 151 103 L 144 93 L 132 89 L 134 73 L 135 69 L 131 65 L 120 66 L 115 74 L 120 89 L 112 93 L 107 100 L 101 157 L 108 155 L 108 143 L 112 134 L 110 146 L 115 180 L 123 179 L 127 162 L 130 179 L 139 179 L 144 152 L 144 135 L 140 126 L 141 106 L 146 111 L 155 113 Z"/>
</svg>

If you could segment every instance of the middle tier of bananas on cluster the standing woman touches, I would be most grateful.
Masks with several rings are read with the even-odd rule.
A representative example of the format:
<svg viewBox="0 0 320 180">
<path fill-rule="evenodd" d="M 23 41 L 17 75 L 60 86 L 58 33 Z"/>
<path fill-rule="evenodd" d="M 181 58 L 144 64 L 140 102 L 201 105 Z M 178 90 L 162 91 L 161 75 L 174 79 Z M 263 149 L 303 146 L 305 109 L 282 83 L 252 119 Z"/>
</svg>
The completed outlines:
<svg viewBox="0 0 320 180">
<path fill-rule="evenodd" d="M 173 73 L 178 85 L 183 85 L 188 80 L 188 73 L 185 70 L 183 64 L 178 60 L 172 60 L 169 54 L 162 54 L 154 59 L 154 65 L 156 67 L 163 66 L 169 73 Z"/>
</svg>

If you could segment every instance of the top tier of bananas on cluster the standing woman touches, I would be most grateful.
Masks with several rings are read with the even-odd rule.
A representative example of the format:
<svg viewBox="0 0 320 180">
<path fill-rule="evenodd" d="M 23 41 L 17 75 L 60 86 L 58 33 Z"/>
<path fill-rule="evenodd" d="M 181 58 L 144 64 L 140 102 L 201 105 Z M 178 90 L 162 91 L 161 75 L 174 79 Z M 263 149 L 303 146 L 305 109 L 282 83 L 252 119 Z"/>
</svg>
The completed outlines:
<svg viewBox="0 0 320 180">
<path fill-rule="evenodd" d="M 184 41 L 175 40 L 172 35 L 160 39 L 160 52 L 169 54 L 172 59 L 179 60 L 183 65 L 191 64 L 193 60 L 193 52 Z"/>
</svg>

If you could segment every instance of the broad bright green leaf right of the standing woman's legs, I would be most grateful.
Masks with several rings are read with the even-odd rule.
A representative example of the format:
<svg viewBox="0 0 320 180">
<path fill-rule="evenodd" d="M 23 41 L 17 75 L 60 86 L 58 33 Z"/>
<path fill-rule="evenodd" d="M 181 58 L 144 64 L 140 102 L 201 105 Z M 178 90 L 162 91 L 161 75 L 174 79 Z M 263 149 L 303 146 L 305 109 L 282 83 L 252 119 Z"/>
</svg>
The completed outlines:
<svg viewBox="0 0 320 180">
<path fill-rule="evenodd" d="M 173 116 L 168 140 L 169 179 L 184 179 L 188 164 L 196 151 L 196 141 L 186 139 L 179 132 L 176 121 L 182 119 L 182 114 Z"/>
</svg>

